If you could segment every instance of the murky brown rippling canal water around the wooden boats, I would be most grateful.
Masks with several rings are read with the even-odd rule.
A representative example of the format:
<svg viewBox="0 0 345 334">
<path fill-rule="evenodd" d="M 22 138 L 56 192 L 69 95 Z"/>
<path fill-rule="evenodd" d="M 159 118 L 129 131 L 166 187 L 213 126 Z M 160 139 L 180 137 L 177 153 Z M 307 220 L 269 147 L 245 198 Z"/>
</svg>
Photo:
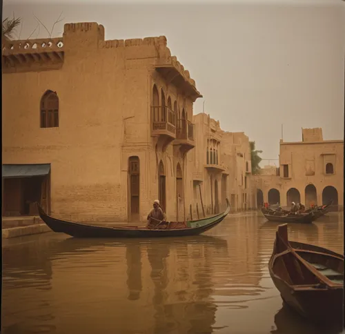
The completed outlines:
<svg viewBox="0 0 345 334">
<path fill-rule="evenodd" d="M 344 252 L 343 213 L 289 238 Z M 268 273 L 276 223 L 237 213 L 197 237 L 3 240 L 3 334 L 318 334 Z"/>
</svg>

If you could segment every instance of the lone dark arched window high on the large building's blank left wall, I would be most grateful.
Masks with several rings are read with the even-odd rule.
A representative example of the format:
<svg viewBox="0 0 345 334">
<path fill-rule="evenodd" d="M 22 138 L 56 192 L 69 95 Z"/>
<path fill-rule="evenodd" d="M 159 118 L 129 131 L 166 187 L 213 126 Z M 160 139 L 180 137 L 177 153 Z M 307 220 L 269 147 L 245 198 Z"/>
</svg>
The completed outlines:
<svg viewBox="0 0 345 334">
<path fill-rule="evenodd" d="M 59 97 L 56 92 L 47 90 L 41 98 L 41 128 L 59 126 Z"/>
</svg>

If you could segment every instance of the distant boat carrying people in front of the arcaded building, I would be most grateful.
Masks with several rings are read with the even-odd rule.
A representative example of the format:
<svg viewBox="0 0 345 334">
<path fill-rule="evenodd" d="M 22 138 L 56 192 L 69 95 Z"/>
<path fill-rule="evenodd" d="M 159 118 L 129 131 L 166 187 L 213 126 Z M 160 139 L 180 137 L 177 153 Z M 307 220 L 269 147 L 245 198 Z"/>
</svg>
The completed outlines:
<svg viewBox="0 0 345 334">
<path fill-rule="evenodd" d="M 270 222 L 310 224 L 312 222 L 315 222 L 315 220 L 319 217 L 322 217 L 323 215 L 328 213 L 332 203 L 333 201 L 323 206 L 317 206 L 316 208 L 304 210 L 303 213 L 299 213 L 297 215 L 295 215 L 295 213 L 291 213 L 288 210 L 275 210 L 272 208 L 264 207 L 262 208 L 262 213 Z"/>
</svg>

